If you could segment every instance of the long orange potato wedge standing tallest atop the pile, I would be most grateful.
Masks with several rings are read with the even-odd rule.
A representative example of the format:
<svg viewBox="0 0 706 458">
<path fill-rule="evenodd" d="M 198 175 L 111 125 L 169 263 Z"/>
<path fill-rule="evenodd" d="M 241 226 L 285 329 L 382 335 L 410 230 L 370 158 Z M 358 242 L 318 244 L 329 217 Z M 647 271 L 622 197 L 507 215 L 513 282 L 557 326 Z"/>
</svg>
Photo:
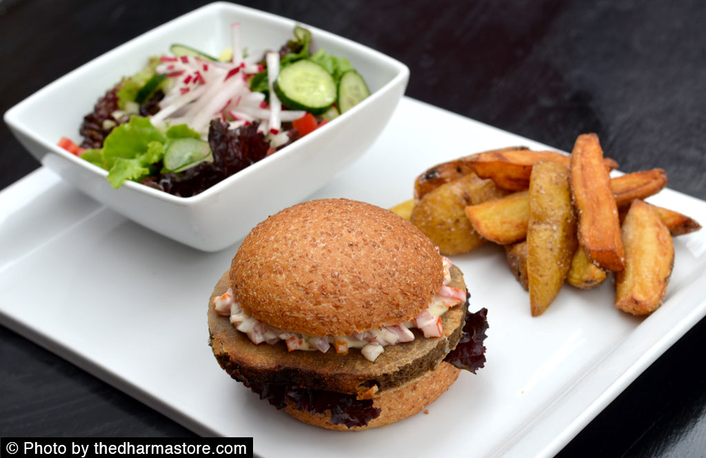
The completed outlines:
<svg viewBox="0 0 706 458">
<path fill-rule="evenodd" d="M 571 153 L 570 182 L 578 240 L 589 259 L 610 271 L 625 268 L 618 207 L 596 134 L 581 134 Z"/>
</svg>

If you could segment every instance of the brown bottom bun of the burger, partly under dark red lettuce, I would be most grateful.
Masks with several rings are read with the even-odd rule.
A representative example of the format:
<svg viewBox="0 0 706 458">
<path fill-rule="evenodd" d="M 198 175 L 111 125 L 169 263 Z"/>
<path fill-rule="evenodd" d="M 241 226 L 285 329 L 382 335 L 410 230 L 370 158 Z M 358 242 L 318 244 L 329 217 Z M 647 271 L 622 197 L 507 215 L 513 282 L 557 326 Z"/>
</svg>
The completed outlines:
<svg viewBox="0 0 706 458">
<path fill-rule="evenodd" d="M 381 413 L 378 418 L 373 418 L 365 426 L 348 428 L 346 425 L 331 423 L 328 412 L 325 414 L 309 413 L 295 409 L 292 404 L 285 407 L 285 411 L 299 421 L 330 430 L 360 431 L 379 428 L 419 413 L 449 389 L 460 372 L 460 369 L 442 361 L 436 370 L 374 397 L 373 407 L 381 409 Z"/>
</svg>

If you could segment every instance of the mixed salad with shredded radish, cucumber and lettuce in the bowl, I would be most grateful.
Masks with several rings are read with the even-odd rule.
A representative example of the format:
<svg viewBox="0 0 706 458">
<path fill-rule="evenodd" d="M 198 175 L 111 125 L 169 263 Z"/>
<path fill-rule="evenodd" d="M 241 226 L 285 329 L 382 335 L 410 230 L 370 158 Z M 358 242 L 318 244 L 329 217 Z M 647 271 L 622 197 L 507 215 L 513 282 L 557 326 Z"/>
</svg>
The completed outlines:
<svg viewBox="0 0 706 458">
<path fill-rule="evenodd" d="M 295 26 L 280 49 L 247 56 L 241 24 L 218 57 L 175 43 L 150 57 L 83 118 L 59 146 L 126 180 L 193 196 L 321 127 L 370 95 L 350 61 L 311 52 Z"/>
</svg>

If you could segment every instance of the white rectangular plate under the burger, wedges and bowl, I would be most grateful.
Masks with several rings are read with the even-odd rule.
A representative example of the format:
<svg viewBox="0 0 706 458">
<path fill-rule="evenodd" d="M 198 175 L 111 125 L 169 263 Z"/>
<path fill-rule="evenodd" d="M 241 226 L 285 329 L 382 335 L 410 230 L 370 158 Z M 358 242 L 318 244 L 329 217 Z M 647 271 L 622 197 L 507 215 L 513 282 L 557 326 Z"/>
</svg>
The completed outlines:
<svg viewBox="0 0 706 458">
<path fill-rule="evenodd" d="M 312 198 L 390 207 L 412 197 L 414 177 L 431 165 L 513 145 L 546 148 L 404 98 L 370 151 Z M 665 189 L 650 201 L 706 221 L 699 199 Z M 207 300 L 237 247 L 179 245 L 43 168 L 0 193 L 0 215 L 2 324 L 196 433 L 253 437 L 262 457 L 459 456 L 468 447 L 478 457 L 551 456 L 706 315 L 706 231 L 676 237 L 664 305 L 643 319 L 614 308 L 611 281 L 565 286 L 532 318 L 503 250 L 482 247 L 452 260 L 472 310 L 489 310 L 486 367 L 463 373 L 429 413 L 330 432 L 260 401 L 213 358 Z"/>
</svg>

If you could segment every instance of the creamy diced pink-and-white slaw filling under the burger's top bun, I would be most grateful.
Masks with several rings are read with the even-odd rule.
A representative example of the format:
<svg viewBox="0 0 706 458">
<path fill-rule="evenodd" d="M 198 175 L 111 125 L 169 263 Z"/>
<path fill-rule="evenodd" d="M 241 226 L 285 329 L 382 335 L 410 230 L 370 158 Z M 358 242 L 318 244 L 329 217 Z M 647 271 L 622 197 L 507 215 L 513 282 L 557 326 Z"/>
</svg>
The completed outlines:
<svg viewBox="0 0 706 458">
<path fill-rule="evenodd" d="M 351 336 L 309 336 L 279 329 L 248 315 L 238 304 L 232 288 L 213 300 L 216 312 L 227 316 L 235 329 L 246 334 L 253 344 L 279 344 L 284 341 L 289 351 L 321 351 L 325 353 L 334 348 L 336 353 L 348 353 L 349 348 L 360 348 L 363 356 L 370 361 L 376 360 L 384 347 L 415 339 L 411 329 L 419 329 L 424 337 L 440 337 L 443 334 L 441 316 L 450 308 L 466 300 L 466 291 L 453 288 L 451 283 L 451 262 L 442 257 L 444 281 L 438 293 L 434 295 L 429 307 L 414 319 L 407 322 L 385 326 L 379 329 L 363 331 Z"/>
</svg>

